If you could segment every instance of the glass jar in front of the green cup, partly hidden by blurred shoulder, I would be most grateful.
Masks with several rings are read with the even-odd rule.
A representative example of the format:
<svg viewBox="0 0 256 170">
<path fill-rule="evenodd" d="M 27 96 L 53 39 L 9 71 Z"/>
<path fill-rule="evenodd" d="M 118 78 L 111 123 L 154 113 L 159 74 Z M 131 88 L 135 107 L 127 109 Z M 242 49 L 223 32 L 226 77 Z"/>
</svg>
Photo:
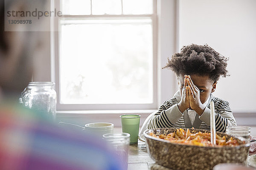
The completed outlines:
<svg viewBox="0 0 256 170">
<path fill-rule="evenodd" d="M 109 149 L 116 153 L 121 159 L 125 169 L 128 167 L 128 153 L 130 144 L 129 133 L 107 133 L 103 135 L 103 139 L 109 143 Z"/>
</svg>

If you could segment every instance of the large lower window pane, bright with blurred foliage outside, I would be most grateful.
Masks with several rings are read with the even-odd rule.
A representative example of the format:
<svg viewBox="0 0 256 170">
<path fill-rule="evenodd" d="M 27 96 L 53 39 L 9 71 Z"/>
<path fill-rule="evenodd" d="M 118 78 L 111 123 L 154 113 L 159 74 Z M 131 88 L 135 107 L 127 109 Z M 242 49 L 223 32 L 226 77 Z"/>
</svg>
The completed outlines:
<svg viewBox="0 0 256 170">
<path fill-rule="evenodd" d="M 151 24 L 61 20 L 61 104 L 153 103 Z"/>
</svg>

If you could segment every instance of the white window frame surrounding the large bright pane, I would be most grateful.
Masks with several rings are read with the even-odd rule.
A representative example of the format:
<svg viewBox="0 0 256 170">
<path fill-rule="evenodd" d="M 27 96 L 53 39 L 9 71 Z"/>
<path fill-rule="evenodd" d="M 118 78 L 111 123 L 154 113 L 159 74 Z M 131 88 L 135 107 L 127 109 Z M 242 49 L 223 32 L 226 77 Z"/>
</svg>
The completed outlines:
<svg viewBox="0 0 256 170">
<path fill-rule="evenodd" d="M 55 0 L 55 3 L 51 4 L 51 8 L 56 8 L 60 11 L 60 0 Z M 60 34 L 59 31 L 54 31 L 51 34 L 51 80 L 55 82 L 55 90 L 57 92 L 57 110 L 58 111 L 76 111 L 76 110 L 138 110 L 138 109 L 157 109 L 158 107 L 158 84 L 157 84 L 157 0 L 153 0 L 153 14 L 142 15 L 63 15 L 62 17 L 54 17 L 51 20 L 52 30 L 60 30 L 59 22 L 62 18 L 67 19 L 89 19 L 89 18 L 125 18 L 125 19 L 140 19 L 151 18 L 152 20 L 152 35 L 153 35 L 153 103 L 151 104 L 60 104 L 60 77 L 59 77 L 59 56 L 60 56 Z M 54 25 L 53 25 L 54 24 Z M 54 28 L 53 28 L 53 26 Z"/>
</svg>

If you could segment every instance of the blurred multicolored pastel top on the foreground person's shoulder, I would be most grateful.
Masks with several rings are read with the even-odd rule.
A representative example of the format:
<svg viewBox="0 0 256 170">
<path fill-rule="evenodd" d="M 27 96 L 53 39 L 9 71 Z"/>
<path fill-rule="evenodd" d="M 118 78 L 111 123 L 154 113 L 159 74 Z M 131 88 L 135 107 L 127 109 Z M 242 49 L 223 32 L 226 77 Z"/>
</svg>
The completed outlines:
<svg viewBox="0 0 256 170">
<path fill-rule="evenodd" d="M 102 139 L 58 127 L 44 115 L 17 105 L 0 105 L 1 170 L 125 169 L 122 158 Z"/>
</svg>

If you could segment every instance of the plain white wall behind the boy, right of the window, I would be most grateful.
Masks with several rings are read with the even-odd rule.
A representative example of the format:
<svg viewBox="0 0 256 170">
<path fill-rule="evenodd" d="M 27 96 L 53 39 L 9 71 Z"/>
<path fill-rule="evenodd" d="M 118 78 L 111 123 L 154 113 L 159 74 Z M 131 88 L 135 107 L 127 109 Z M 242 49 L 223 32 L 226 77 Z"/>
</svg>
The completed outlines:
<svg viewBox="0 0 256 170">
<path fill-rule="evenodd" d="M 256 0 L 180 0 L 179 47 L 207 43 L 229 57 L 215 96 L 256 113 Z"/>
</svg>

